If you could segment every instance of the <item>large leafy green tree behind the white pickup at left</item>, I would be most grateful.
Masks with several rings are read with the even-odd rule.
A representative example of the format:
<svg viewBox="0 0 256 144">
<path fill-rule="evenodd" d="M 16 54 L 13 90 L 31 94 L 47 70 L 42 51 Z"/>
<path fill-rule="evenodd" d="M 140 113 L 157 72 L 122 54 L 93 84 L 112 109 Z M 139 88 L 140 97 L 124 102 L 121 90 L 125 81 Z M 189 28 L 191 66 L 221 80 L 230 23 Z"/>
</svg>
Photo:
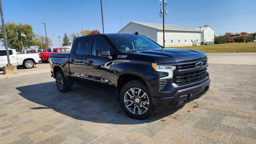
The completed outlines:
<svg viewBox="0 0 256 144">
<path fill-rule="evenodd" d="M 13 48 L 16 51 L 22 50 L 22 42 L 24 49 L 28 49 L 31 46 L 40 46 L 40 42 L 38 38 L 36 38 L 36 34 L 33 32 L 31 25 L 8 22 L 5 24 L 5 28 L 9 48 Z M 21 33 L 26 35 L 26 37 L 22 37 L 22 41 Z M 3 38 L 2 25 L 0 26 L 0 37 Z M 3 46 L 4 39 L 1 39 L 1 42 Z"/>
</svg>

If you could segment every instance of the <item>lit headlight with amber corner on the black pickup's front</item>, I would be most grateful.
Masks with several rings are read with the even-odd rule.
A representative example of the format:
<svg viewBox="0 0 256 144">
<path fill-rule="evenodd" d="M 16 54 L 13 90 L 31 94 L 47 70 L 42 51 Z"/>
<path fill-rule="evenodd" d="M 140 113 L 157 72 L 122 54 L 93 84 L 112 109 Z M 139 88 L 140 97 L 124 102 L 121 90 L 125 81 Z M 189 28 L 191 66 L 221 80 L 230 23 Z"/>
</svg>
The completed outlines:
<svg viewBox="0 0 256 144">
<path fill-rule="evenodd" d="M 160 78 L 160 79 L 166 79 L 166 78 L 172 78 L 173 71 L 176 69 L 176 66 L 167 66 L 167 65 L 158 65 L 156 63 L 152 63 L 152 68 L 158 72 L 168 72 L 168 76 Z"/>
</svg>

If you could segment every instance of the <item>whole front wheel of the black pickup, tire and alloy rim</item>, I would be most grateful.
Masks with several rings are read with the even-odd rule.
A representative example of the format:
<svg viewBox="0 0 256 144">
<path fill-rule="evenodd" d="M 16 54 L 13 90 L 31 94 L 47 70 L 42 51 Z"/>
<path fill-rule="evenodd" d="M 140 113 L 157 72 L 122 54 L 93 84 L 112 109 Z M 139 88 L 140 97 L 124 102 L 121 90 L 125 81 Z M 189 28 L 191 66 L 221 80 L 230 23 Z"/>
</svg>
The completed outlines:
<svg viewBox="0 0 256 144">
<path fill-rule="evenodd" d="M 148 87 L 141 80 L 125 84 L 119 96 L 122 110 L 134 119 L 146 119 L 154 113 L 154 105 Z"/>
</svg>

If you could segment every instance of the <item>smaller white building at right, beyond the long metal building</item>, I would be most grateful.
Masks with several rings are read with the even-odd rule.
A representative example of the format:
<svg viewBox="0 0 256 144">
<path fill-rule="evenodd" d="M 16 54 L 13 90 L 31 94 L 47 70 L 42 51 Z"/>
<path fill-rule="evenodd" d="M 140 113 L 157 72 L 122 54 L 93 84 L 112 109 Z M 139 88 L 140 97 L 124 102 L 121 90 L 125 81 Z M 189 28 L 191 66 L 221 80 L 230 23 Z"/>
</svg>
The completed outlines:
<svg viewBox="0 0 256 144">
<path fill-rule="evenodd" d="M 199 27 L 196 30 L 202 31 L 201 44 L 214 44 L 214 30 L 210 26 Z"/>
</svg>

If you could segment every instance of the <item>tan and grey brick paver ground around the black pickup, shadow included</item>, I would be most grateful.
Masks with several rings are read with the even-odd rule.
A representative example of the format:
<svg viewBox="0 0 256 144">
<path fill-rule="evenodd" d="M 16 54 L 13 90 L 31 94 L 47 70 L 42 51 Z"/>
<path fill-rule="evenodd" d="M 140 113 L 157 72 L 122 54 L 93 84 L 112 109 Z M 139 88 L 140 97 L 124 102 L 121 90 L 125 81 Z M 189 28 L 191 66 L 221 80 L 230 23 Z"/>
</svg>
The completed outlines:
<svg viewBox="0 0 256 144">
<path fill-rule="evenodd" d="M 210 64 L 209 92 L 183 107 L 134 120 L 114 94 L 50 73 L 0 79 L 0 143 L 256 143 L 256 66 Z"/>
</svg>

